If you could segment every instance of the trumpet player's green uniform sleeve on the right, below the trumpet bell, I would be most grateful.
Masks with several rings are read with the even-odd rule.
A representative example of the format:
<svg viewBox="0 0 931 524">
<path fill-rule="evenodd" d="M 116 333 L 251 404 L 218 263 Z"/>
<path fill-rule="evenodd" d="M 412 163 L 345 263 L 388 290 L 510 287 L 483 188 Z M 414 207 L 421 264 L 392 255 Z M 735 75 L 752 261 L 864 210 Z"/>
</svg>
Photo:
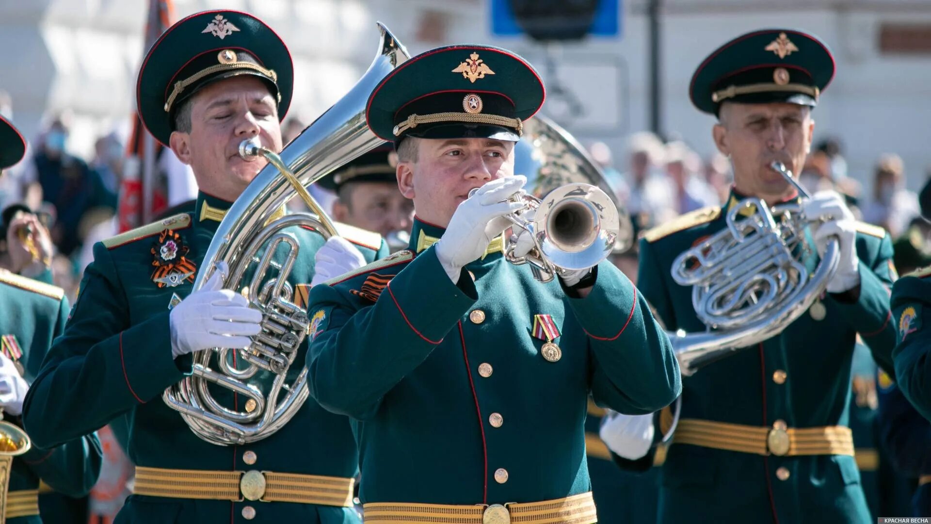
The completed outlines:
<svg viewBox="0 0 931 524">
<path fill-rule="evenodd" d="M 666 332 L 620 269 L 601 262 L 585 298 L 569 297 L 594 355 L 592 397 L 627 415 L 667 407 L 681 393 L 681 373 Z"/>
</svg>

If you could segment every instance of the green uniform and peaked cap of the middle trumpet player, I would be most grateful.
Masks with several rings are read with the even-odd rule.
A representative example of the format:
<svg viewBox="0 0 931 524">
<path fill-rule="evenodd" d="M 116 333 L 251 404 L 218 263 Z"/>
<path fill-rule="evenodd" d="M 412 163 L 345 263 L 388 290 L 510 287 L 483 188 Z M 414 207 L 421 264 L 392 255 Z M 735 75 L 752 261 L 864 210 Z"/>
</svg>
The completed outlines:
<svg viewBox="0 0 931 524">
<path fill-rule="evenodd" d="M 518 56 L 452 46 L 398 66 L 367 117 L 396 142 L 517 141 L 542 102 Z M 609 262 L 580 298 L 507 262 L 499 237 L 452 283 L 443 234 L 415 219 L 408 250 L 311 291 L 311 394 L 354 421 L 366 522 L 595 521 L 589 392 L 628 413 L 668 405 L 668 338 Z"/>
</svg>

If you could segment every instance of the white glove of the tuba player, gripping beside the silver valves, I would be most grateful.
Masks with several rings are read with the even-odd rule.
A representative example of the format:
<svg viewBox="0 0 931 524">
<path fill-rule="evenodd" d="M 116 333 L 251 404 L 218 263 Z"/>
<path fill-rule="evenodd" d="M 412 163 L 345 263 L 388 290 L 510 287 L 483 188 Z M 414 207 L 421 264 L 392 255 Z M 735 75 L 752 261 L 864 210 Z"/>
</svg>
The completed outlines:
<svg viewBox="0 0 931 524">
<path fill-rule="evenodd" d="M 262 312 L 245 296 L 223 287 L 227 267 L 217 264 L 203 287 L 184 298 L 169 314 L 171 355 L 210 348 L 246 348 L 250 335 L 262 331 Z"/>
</svg>

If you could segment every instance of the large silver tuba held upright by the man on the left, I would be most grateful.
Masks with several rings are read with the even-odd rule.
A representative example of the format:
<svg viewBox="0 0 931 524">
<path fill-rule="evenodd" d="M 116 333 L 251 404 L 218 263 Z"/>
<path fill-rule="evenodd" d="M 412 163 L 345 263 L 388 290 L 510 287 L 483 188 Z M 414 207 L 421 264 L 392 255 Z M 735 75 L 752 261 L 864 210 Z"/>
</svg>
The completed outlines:
<svg viewBox="0 0 931 524">
<path fill-rule="evenodd" d="M 274 434 L 307 399 L 306 369 L 288 382 L 288 371 L 310 321 L 307 311 L 294 303 L 294 290 L 287 282 L 300 246 L 283 229 L 308 225 L 325 232 L 327 238 L 335 235 L 330 219 L 305 187 L 383 142 L 366 124 L 365 103 L 377 83 L 409 55 L 384 25 L 378 27 L 378 54 L 365 75 L 285 147 L 280 157 L 255 142 L 239 146 L 243 158 L 262 156 L 268 165 L 223 217 L 194 289 L 207 282 L 222 260 L 230 270 L 223 279 L 227 289 L 240 289 L 251 269 L 253 276 L 243 294 L 251 307 L 262 311 L 262 332 L 248 348 L 195 352 L 191 376 L 162 395 L 169 407 L 181 412 L 191 430 L 211 444 L 241 445 Z M 278 210 L 295 194 L 316 214 L 280 216 Z M 273 260 L 273 255 L 281 253 L 279 248 L 287 254 L 283 262 Z M 253 379 L 260 370 L 270 372 L 263 375 L 271 379 Z M 209 384 L 244 395 L 244 409 L 223 406 L 209 392 Z"/>
</svg>

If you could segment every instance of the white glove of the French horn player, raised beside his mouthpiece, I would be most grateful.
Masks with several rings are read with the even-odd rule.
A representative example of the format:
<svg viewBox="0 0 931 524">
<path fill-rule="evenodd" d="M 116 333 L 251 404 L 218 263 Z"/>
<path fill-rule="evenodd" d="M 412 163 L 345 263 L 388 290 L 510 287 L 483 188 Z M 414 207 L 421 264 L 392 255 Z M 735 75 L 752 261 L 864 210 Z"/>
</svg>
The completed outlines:
<svg viewBox="0 0 931 524">
<path fill-rule="evenodd" d="M 828 292 L 843 293 L 857 287 L 860 284 L 857 221 L 843 202 L 843 197 L 836 191 L 818 191 L 811 200 L 804 202 L 803 213 L 809 220 L 827 220 L 823 224 L 812 225 L 812 237 L 819 255 L 824 256 L 831 237 L 836 237 L 840 243 L 841 259 L 828 282 Z"/>
</svg>

